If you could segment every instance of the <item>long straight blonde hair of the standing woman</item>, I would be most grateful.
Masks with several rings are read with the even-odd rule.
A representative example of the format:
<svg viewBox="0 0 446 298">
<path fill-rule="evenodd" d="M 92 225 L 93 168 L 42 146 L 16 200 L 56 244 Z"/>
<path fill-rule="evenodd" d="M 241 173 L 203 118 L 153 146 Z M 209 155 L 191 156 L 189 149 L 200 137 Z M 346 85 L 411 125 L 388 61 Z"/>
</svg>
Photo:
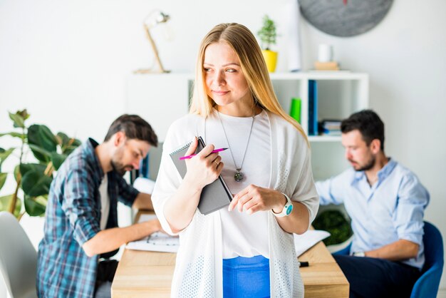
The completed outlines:
<svg viewBox="0 0 446 298">
<path fill-rule="evenodd" d="M 195 67 L 195 83 L 190 113 L 207 117 L 212 113 L 212 107 L 216 105 L 212 98 L 207 96 L 203 63 L 207 46 L 217 42 L 227 43 L 234 49 L 255 104 L 266 111 L 281 116 L 281 118 L 294 125 L 306 138 L 301 125 L 294 118 L 291 118 L 277 101 L 259 44 L 251 31 L 241 24 L 219 24 L 204 36 L 199 47 Z"/>
</svg>

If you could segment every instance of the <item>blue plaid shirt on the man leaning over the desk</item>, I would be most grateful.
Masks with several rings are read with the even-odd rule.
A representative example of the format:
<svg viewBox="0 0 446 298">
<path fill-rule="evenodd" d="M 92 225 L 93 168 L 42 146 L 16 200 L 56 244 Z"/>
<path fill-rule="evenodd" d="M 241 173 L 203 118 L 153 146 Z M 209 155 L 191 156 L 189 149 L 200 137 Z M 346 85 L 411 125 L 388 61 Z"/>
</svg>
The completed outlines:
<svg viewBox="0 0 446 298">
<path fill-rule="evenodd" d="M 82 245 L 100 231 L 99 186 L 104 174 L 95 154 L 97 145 L 89 139 L 73 151 L 51 183 L 45 235 L 38 246 L 38 297 L 94 295 L 99 256 L 88 257 Z M 112 171 L 108 173 L 108 195 L 107 228 L 117 227 L 118 199 L 131 206 L 138 191 Z"/>
</svg>

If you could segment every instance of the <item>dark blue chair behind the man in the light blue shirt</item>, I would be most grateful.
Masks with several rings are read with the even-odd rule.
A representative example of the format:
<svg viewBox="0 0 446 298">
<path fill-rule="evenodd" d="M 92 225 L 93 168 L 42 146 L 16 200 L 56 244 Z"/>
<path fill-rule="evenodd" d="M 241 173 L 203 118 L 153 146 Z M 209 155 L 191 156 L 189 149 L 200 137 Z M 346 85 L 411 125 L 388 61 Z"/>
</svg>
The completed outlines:
<svg viewBox="0 0 446 298">
<path fill-rule="evenodd" d="M 425 264 L 422 267 L 421 276 L 413 286 L 410 298 L 437 297 L 443 265 L 445 264 L 440 231 L 430 222 L 425 222 L 424 231 L 422 243 L 425 246 Z"/>
</svg>

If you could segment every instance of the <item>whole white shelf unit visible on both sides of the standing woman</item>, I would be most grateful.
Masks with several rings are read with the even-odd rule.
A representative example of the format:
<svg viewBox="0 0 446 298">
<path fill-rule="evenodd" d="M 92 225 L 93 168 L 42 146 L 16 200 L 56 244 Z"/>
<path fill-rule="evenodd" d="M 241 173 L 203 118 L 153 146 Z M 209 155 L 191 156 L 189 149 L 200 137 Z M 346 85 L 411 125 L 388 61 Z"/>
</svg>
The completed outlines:
<svg viewBox="0 0 446 298">
<path fill-rule="evenodd" d="M 308 81 L 316 80 L 318 88 L 318 120 L 343 119 L 369 106 L 367 73 L 319 71 L 303 73 L 271 73 L 271 82 L 279 103 L 289 113 L 291 98 L 301 98 L 301 125 L 308 133 Z M 170 123 L 188 113 L 193 84 L 192 73 L 133 74 L 128 80 L 126 112 L 145 118 L 157 133 L 160 143 Z M 340 173 L 348 165 L 343 158 L 341 137 L 312 135 L 315 180 Z M 155 178 L 161 148 L 152 150 L 151 177 Z M 152 155 L 155 155 L 152 158 Z"/>
</svg>

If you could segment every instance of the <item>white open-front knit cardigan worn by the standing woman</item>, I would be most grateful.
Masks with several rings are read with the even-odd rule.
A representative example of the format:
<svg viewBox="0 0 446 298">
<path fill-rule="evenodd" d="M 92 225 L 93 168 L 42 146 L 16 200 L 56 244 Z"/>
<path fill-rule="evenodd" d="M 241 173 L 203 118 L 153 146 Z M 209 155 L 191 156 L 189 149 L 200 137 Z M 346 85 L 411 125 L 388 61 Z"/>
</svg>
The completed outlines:
<svg viewBox="0 0 446 298">
<path fill-rule="evenodd" d="M 268 113 L 271 129 L 271 182 L 269 187 L 284 192 L 308 208 L 310 222 L 318 210 L 318 195 L 311 173 L 306 140 L 293 125 Z M 204 135 L 204 118 L 186 115 L 170 126 L 163 145 L 160 172 L 152 202 L 162 228 L 174 234 L 164 216 L 165 202 L 182 181 L 169 153 Z M 304 297 L 304 284 L 297 264 L 294 237 L 284 232 L 268 212 L 271 297 Z M 308 223 L 309 225 L 309 223 Z M 171 297 L 223 297 L 222 222 L 219 212 L 202 215 L 198 210 L 190 225 L 180 233 Z"/>
</svg>

